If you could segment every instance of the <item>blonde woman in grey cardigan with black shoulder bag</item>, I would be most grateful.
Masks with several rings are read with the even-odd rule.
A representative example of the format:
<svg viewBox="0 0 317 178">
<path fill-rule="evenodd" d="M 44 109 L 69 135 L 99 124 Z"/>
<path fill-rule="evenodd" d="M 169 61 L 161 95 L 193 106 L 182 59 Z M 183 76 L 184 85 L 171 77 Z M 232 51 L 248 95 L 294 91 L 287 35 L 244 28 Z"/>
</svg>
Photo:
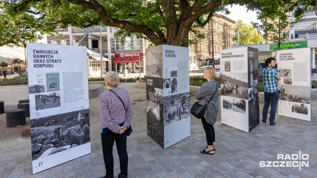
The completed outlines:
<svg viewBox="0 0 317 178">
<path fill-rule="evenodd" d="M 195 98 L 199 99 L 198 104 L 205 105 L 211 99 L 204 117 L 202 117 L 203 127 L 206 133 L 207 139 L 207 149 L 201 150 L 201 153 L 204 154 L 214 154 L 215 150 L 215 135 L 213 125 L 216 122 L 218 114 L 218 84 L 214 80 L 216 76 L 215 70 L 213 67 L 206 67 L 204 69 L 204 79 L 207 80 L 206 83 L 195 94 Z"/>
</svg>

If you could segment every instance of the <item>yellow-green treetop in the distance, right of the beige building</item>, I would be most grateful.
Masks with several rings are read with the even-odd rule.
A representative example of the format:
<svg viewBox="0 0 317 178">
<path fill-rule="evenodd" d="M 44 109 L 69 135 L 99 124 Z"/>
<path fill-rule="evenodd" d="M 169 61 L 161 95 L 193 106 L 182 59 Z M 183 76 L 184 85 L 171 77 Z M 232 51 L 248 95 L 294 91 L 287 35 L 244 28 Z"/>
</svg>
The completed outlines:
<svg viewBox="0 0 317 178">
<path fill-rule="evenodd" d="M 262 36 L 256 31 L 254 26 L 238 20 L 235 27 L 239 30 L 239 45 L 255 45 L 262 43 Z"/>
</svg>

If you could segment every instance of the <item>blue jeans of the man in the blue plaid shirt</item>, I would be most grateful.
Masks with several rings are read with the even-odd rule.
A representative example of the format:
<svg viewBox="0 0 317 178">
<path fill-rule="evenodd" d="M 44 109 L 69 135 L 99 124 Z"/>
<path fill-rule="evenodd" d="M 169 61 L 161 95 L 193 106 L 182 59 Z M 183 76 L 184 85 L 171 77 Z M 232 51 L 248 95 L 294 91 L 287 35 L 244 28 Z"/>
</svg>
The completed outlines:
<svg viewBox="0 0 317 178">
<path fill-rule="evenodd" d="M 269 114 L 269 123 L 274 123 L 278 98 L 279 98 L 278 90 L 274 92 L 264 92 L 264 106 L 263 106 L 263 112 L 262 112 L 262 117 L 264 121 L 266 121 L 267 119 L 268 107 L 271 104 L 271 111 Z"/>
</svg>

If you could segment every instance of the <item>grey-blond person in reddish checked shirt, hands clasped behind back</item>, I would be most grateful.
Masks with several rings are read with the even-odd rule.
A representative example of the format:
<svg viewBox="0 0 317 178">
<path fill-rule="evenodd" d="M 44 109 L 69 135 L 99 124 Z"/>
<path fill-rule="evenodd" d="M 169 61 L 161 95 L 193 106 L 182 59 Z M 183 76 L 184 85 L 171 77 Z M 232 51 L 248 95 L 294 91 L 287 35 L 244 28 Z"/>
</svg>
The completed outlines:
<svg viewBox="0 0 317 178">
<path fill-rule="evenodd" d="M 126 129 L 130 126 L 133 108 L 127 90 L 117 88 L 119 76 L 111 71 L 105 75 L 107 91 L 99 96 L 101 140 L 103 146 L 106 176 L 113 178 L 112 147 L 115 141 L 120 160 L 118 178 L 128 177 L 128 154 Z M 122 102 L 121 102 L 122 101 Z"/>
</svg>

